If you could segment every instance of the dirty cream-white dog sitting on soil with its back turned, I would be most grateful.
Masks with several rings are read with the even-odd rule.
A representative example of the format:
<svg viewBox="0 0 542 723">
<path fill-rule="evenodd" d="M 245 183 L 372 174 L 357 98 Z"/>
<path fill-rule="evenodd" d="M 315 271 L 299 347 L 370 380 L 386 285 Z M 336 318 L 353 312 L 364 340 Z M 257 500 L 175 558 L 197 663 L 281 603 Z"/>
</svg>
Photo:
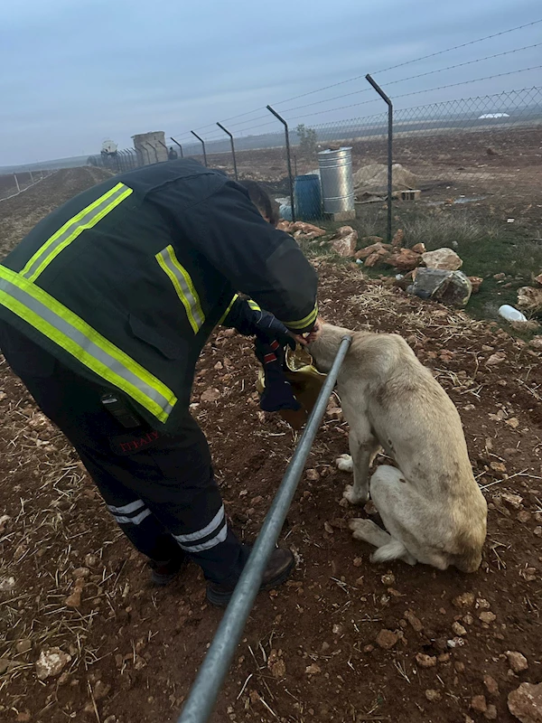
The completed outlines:
<svg viewBox="0 0 542 723">
<path fill-rule="evenodd" d="M 474 480 L 461 419 L 452 400 L 401 336 L 349 332 L 322 324 L 308 347 L 319 371 L 329 371 L 345 333 L 353 337 L 337 380 L 350 425 L 353 471 L 344 493 L 352 504 L 369 498 L 369 466 L 382 446 L 397 467 L 381 465 L 370 495 L 386 526 L 352 520 L 358 540 L 377 547 L 372 562 L 404 559 L 463 572 L 480 567 L 487 504 Z"/>
</svg>

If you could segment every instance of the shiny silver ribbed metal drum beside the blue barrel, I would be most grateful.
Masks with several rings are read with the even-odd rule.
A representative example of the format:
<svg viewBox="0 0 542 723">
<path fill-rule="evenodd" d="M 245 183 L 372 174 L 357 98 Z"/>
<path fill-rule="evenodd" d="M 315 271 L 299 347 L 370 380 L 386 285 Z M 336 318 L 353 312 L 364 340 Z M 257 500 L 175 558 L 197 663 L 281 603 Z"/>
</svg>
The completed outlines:
<svg viewBox="0 0 542 723">
<path fill-rule="evenodd" d="M 352 149 L 321 151 L 318 154 L 324 213 L 353 211 L 354 179 L 352 176 Z"/>
</svg>

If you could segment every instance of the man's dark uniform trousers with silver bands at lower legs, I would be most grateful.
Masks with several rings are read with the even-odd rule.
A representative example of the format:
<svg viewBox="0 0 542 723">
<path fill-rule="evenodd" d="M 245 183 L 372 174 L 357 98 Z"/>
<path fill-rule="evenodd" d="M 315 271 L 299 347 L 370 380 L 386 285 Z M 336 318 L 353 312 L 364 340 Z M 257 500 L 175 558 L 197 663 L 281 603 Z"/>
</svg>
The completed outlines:
<svg viewBox="0 0 542 723">
<path fill-rule="evenodd" d="M 60 427 L 136 549 L 165 562 L 182 550 L 205 577 L 237 579 L 248 558 L 229 529 L 201 428 L 186 410 L 175 435 L 142 422 L 126 429 L 101 403 L 99 384 L 0 324 L 0 348 L 38 407 Z"/>
</svg>

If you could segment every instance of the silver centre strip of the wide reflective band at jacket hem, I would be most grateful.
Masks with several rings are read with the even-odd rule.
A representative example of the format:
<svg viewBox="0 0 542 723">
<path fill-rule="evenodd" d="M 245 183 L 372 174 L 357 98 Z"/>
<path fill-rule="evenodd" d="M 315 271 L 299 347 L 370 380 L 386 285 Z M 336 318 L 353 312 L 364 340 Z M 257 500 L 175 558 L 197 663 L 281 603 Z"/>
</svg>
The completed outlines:
<svg viewBox="0 0 542 723">
<path fill-rule="evenodd" d="M 82 351 L 87 352 L 90 356 L 94 357 L 94 359 L 98 360 L 98 362 L 101 362 L 107 366 L 108 369 L 115 372 L 119 377 L 133 384 L 138 390 L 142 391 L 146 397 L 153 399 L 160 408 L 164 409 L 165 414 L 169 416 L 172 412 L 173 405 L 170 404 L 158 390 L 155 390 L 154 387 L 149 384 L 145 384 L 145 381 L 141 380 L 137 374 L 127 369 L 124 364 L 118 362 L 115 357 L 107 353 L 98 346 L 98 344 L 92 342 L 88 336 L 85 336 L 84 333 L 80 332 L 79 329 L 72 326 L 70 322 L 67 322 L 53 312 L 48 306 L 42 304 L 41 301 L 27 294 L 23 289 L 19 288 L 19 286 L 15 286 L 5 278 L 0 278 L 0 289 L 10 296 L 13 296 L 14 299 L 20 301 L 21 304 L 31 309 L 38 316 L 41 316 L 42 319 L 51 324 L 51 326 L 54 326 L 54 328 L 64 334 L 64 336 L 69 337 L 71 341 L 78 344 Z"/>
</svg>

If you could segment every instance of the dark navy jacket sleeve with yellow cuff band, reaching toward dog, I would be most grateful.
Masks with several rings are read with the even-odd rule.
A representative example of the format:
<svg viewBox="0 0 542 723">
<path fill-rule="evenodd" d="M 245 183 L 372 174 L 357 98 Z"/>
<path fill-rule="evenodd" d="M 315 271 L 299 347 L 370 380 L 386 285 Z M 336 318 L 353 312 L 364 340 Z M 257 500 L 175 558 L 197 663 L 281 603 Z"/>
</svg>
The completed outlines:
<svg viewBox="0 0 542 723">
<path fill-rule="evenodd" d="M 178 210 L 168 204 L 175 225 L 231 286 L 292 331 L 310 331 L 318 280 L 294 239 L 264 221 L 238 183 L 218 174 L 197 183 L 209 190 L 200 202 Z"/>
</svg>

